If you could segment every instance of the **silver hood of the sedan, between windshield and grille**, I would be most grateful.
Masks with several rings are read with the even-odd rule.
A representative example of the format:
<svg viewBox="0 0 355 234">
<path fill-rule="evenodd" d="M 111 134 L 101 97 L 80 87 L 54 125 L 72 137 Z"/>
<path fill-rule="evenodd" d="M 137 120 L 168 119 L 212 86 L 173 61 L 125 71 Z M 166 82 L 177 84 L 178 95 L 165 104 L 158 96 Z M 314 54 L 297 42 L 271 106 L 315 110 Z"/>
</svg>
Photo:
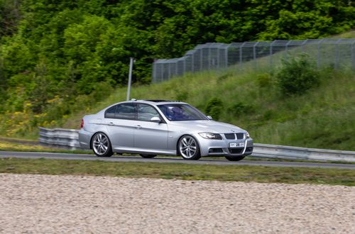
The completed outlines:
<svg viewBox="0 0 355 234">
<path fill-rule="evenodd" d="M 246 130 L 229 123 L 222 123 L 217 121 L 171 121 L 171 125 L 189 128 L 198 132 L 212 132 L 212 133 L 245 133 Z"/>
</svg>

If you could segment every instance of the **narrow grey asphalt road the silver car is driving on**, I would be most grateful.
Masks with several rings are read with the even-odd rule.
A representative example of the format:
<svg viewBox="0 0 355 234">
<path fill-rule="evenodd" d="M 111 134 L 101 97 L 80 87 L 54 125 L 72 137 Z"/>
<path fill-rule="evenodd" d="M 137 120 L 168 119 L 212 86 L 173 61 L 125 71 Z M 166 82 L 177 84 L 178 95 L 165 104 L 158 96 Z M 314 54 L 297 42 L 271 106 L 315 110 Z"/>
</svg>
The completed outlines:
<svg viewBox="0 0 355 234">
<path fill-rule="evenodd" d="M 182 160 L 179 157 L 155 157 L 153 159 L 145 159 L 140 156 L 119 156 L 113 157 L 96 157 L 94 155 L 67 154 L 53 152 L 9 152 L 0 151 L 0 158 L 16 157 L 24 159 L 55 159 L 55 160 L 102 160 L 107 162 L 157 162 L 157 163 L 184 163 L 193 165 L 254 165 L 266 167 L 322 167 L 337 169 L 355 169 L 354 164 L 338 164 L 338 163 L 322 163 L 322 162 L 281 162 L 281 161 L 265 161 L 265 160 L 241 160 L 239 162 L 231 162 L 221 159 L 210 159 L 202 157 L 200 160 Z"/>
</svg>

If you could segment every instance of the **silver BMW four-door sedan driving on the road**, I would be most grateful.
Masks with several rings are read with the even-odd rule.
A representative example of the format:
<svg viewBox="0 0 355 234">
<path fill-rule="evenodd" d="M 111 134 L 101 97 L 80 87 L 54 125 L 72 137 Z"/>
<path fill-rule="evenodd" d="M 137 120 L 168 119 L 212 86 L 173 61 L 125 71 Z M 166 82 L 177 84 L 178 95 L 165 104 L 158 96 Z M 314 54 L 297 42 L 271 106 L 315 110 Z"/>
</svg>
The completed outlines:
<svg viewBox="0 0 355 234">
<path fill-rule="evenodd" d="M 181 155 L 185 160 L 204 156 L 224 156 L 242 160 L 253 152 L 249 133 L 228 123 L 213 121 L 181 101 L 124 101 L 84 116 L 79 131 L 83 148 L 99 157 L 117 152 Z"/>
</svg>

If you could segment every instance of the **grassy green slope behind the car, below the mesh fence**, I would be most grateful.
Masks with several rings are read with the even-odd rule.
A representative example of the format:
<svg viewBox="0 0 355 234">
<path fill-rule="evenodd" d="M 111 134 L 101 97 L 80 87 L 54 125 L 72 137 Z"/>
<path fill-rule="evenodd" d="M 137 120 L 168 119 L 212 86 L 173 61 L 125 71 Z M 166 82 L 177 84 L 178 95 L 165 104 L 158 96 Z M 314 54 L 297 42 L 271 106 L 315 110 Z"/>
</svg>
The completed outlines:
<svg viewBox="0 0 355 234">
<path fill-rule="evenodd" d="M 275 72 L 277 73 L 277 72 Z M 355 150 L 355 74 L 319 72 L 320 83 L 302 94 L 283 95 L 276 74 L 229 69 L 187 74 L 161 84 L 133 87 L 136 99 L 178 99 L 249 130 L 257 143 Z M 86 113 L 126 99 L 126 88 L 70 116 L 63 126 L 78 128 Z M 214 109 L 214 111 L 213 111 Z"/>
</svg>

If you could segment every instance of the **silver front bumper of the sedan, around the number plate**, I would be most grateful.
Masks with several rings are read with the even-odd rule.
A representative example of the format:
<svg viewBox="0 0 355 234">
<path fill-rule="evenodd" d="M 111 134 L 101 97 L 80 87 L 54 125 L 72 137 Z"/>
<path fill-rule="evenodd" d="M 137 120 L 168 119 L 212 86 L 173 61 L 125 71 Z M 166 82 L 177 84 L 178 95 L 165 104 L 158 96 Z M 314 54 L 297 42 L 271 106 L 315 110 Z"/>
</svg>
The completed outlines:
<svg viewBox="0 0 355 234">
<path fill-rule="evenodd" d="M 202 138 L 196 134 L 200 145 L 200 152 L 202 157 L 206 156 L 246 156 L 253 152 L 253 139 L 246 138 L 243 140 L 211 140 Z M 229 147 L 229 143 L 244 143 L 243 147 Z"/>
</svg>

